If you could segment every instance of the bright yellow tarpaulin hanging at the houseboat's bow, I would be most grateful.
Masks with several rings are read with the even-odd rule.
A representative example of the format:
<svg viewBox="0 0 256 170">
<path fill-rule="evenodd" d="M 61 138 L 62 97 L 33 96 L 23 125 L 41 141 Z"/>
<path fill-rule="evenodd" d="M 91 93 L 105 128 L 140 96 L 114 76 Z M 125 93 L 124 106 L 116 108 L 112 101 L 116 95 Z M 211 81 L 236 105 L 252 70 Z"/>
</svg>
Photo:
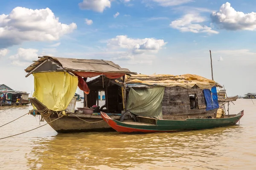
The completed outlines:
<svg viewBox="0 0 256 170">
<path fill-rule="evenodd" d="M 36 97 L 52 111 L 64 111 L 76 93 L 78 78 L 66 72 L 33 73 Z"/>
</svg>

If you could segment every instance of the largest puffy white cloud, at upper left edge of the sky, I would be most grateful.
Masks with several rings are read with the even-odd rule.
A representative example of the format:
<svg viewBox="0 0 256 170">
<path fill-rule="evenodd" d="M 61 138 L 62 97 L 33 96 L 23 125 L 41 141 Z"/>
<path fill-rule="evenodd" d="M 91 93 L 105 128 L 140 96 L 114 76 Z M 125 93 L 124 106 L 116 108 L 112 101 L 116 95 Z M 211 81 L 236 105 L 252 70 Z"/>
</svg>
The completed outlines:
<svg viewBox="0 0 256 170">
<path fill-rule="evenodd" d="M 0 48 L 24 41 L 53 41 L 76 29 L 76 23 L 60 23 L 49 9 L 14 8 L 0 15 Z"/>
</svg>

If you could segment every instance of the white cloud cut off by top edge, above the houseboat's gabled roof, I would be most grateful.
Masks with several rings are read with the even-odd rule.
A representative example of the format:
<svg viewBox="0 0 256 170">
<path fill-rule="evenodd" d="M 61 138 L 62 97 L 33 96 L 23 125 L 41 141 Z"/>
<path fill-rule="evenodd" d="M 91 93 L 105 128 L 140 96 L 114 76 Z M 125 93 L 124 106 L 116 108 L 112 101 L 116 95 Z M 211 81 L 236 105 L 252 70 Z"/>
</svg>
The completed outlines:
<svg viewBox="0 0 256 170">
<path fill-rule="evenodd" d="M 83 0 L 79 3 L 81 9 L 93 10 L 96 12 L 103 12 L 105 8 L 111 7 L 110 0 Z"/>
</svg>

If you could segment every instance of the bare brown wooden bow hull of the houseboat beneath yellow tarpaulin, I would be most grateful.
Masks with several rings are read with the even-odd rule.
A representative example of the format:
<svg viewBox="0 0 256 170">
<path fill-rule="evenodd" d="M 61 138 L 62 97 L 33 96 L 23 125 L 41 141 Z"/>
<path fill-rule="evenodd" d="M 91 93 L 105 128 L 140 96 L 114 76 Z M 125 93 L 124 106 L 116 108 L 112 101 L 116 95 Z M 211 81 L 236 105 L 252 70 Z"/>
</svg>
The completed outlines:
<svg viewBox="0 0 256 170">
<path fill-rule="evenodd" d="M 57 115 L 53 115 L 49 118 L 44 118 L 47 123 L 55 120 L 49 125 L 57 132 L 57 133 L 74 133 L 74 132 L 105 132 L 105 131 L 114 131 L 111 126 L 108 125 L 101 116 L 89 116 L 89 115 L 81 115 L 77 114 L 79 118 L 74 115 L 63 116 L 61 119 L 55 120 L 58 118 Z M 87 117 L 84 117 L 87 116 Z M 120 119 L 120 116 L 113 116 L 116 119 Z M 87 121 L 83 121 L 83 120 Z M 101 121 L 101 122 L 99 122 Z M 91 123 L 88 123 L 91 122 Z M 93 123 L 95 122 L 95 123 Z"/>
</svg>

